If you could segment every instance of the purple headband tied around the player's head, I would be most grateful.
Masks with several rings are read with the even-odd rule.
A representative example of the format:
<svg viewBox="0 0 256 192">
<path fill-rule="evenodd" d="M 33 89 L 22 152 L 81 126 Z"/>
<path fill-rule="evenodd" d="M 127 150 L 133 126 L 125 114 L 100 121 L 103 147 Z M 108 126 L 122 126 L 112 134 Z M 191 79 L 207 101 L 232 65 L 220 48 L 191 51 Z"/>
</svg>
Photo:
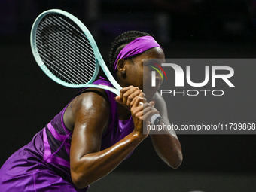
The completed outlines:
<svg viewBox="0 0 256 192">
<path fill-rule="evenodd" d="M 143 53 L 145 50 L 149 50 L 153 47 L 161 46 L 157 44 L 157 41 L 155 41 L 154 38 L 151 36 L 143 36 L 134 39 L 132 42 L 130 42 L 130 44 L 127 44 L 118 54 L 117 59 L 115 59 L 114 62 L 114 70 L 117 69 L 118 59 L 126 59 L 129 56 L 134 56 L 136 54 Z"/>
</svg>

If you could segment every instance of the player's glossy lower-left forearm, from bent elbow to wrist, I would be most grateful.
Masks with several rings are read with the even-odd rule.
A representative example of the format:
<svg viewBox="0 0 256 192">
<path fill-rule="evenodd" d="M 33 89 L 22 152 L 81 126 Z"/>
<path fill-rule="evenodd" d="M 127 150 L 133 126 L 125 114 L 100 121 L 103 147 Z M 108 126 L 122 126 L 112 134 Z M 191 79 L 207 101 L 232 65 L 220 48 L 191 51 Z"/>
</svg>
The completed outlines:
<svg viewBox="0 0 256 192">
<path fill-rule="evenodd" d="M 75 186 L 84 188 L 108 175 L 143 139 L 143 136 L 131 133 L 110 148 L 81 157 L 72 169 L 72 180 Z"/>
</svg>

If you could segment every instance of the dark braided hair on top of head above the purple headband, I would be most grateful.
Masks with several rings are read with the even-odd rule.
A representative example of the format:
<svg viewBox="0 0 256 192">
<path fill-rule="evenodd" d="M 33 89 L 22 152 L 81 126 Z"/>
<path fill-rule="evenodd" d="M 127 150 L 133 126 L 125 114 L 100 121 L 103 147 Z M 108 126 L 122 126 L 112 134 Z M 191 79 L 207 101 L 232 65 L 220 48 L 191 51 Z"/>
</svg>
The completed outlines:
<svg viewBox="0 0 256 192">
<path fill-rule="evenodd" d="M 108 69 L 110 70 L 111 74 L 114 74 L 114 62 L 117 59 L 118 54 L 131 41 L 136 38 L 143 37 L 143 36 L 151 36 L 146 32 L 138 32 L 138 31 L 128 31 L 123 32 L 123 34 L 117 36 L 112 43 L 111 50 L 109 53 L 109 61 L 107 63 Z"/>
</svg>

